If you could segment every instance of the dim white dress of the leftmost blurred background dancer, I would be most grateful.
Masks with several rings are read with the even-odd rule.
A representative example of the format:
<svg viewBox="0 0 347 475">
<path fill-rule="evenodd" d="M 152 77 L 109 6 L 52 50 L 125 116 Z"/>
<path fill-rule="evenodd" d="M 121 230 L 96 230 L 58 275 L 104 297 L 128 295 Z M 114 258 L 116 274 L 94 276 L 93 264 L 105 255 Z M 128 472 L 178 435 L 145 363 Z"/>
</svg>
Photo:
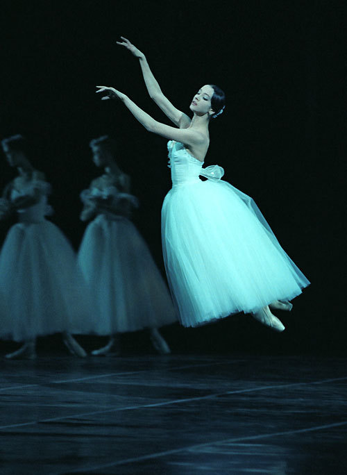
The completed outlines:
<svg viewBox="0 0 347 475">
<path fill-rule="evenodd" d="M 37 193 L 40 199 L 18 211 L 19 223 L 10 228 L 1 249 L 0 289 L 9 311 L 0 316 L 0 338 L 21 342 L 62 331 L 84 333 L 90 308 L 76 253 L 60 229 L 44 219 L 51 213 L 50 185 L 22 177 L 13 183 L 10 201 Z"/>
</svg>

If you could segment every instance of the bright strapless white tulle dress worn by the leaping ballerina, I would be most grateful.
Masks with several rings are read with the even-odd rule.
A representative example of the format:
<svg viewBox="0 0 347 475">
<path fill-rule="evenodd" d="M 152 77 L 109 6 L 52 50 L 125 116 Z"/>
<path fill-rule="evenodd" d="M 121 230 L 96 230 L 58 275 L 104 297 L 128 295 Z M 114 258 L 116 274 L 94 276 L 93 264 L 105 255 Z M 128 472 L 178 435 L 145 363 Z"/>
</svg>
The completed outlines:
<svg viewBox="0 0 347 475">
<path fill-rule="evenodd" d="M 168 149 L 173 186 L 162 206 L 162 247 L 182 324 L 253 313 L 301 294 L 310 282 L 253 199 L 221 181 L 221 167 L 203 169 L 180 142 Z"/>
</svg>

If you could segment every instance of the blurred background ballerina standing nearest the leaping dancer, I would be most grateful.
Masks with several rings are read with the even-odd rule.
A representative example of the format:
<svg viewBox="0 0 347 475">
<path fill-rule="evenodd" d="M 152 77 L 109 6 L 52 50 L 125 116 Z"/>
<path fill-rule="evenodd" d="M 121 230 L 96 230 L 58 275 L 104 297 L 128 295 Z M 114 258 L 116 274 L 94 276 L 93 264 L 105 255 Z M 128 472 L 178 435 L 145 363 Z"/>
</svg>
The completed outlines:
<svg viewBox="0 0 347 475">
<path fill-rule="evenodd" d="M 149 328 L 155 349 L 170 353 L 159 326 L 177 322 L 167 285 L 144 242 L 130 221 L 137 199 L 130 194 L 130 177 L 115 161 L 115 141 L 107 135 L 90 142 L 93 161 L 105 174 L 83 190 L 81 220 L 87 226 L 78 263 L 97 302 L 99 312 L 88 326 L 91 333 L 109 335 L 95 356 L 119 352 L 119 334 Z"/>
</svg>

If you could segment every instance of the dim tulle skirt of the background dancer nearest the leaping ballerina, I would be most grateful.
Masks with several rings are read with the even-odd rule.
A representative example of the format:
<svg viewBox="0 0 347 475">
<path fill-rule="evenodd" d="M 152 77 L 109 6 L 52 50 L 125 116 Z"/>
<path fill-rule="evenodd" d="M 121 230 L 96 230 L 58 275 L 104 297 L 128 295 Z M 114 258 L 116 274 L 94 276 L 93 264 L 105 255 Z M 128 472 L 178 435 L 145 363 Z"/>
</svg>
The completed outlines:
<svg viewBox="0 0 347 475">
<path fill-rule="evenodd" d="M 98 305 L 92 333 L 111 335 L 177 322 L 149 248 L 125 217 L 96 217 L 85 230 L 78 264 Z"/>
</svg>

